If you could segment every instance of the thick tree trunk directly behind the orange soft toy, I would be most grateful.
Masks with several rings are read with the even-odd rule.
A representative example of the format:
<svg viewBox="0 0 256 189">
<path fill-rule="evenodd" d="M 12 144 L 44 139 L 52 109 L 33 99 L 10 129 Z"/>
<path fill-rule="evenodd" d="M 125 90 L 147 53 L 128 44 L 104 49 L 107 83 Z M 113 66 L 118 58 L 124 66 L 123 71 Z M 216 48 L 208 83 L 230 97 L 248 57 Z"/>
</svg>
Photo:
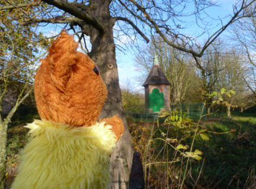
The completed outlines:
<svg viewBox="0 0 256 189">
<path fill-rule="evenodd" d="M 127 128 L 127 121 L 124 117 L 123 104 L 121 101 L 121 90 L 119 87 L 119 75 L 116 63 L 116 46 L 114 44 L 113 26 L 114 20 L 110 18 L 107 1 L 94 1 L 98 7 L 94 11 L 94 17 L 104 23 L 104 34 L 100 34 L 94 28 L 90 28 L 92 50 L 89 56 L 97 64 L 101 76 L 107 85 L 108 98 L 105 101 L 101 118 L 111 117 L 116 114 L 123 120 L 125 130 L 110 158 L 110 172 L 112 175 L 111 188 L 128 188 L 129 174 L 132 166 L 133 148 L 132 139 Z M 88 27 L 85 26 L 85 27 Z"/>
</svg>

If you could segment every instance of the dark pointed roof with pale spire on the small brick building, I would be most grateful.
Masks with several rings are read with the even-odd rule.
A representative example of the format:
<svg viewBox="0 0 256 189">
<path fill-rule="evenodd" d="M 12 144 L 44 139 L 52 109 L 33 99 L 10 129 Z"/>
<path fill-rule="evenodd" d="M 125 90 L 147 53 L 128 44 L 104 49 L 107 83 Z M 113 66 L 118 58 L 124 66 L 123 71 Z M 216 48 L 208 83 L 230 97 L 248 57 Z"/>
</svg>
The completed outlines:
<svg viewBox="0 0 256 189">
<path fill-rule="evenodd" d="M 154 57 L 154 64 L 151 68 L 151 71 L 149 72 L 148 78 L 144 82 L 143 86 L 145 85 L 151 85 L 151 84 L 165 84 L 165 85 L 171 85 L 162 72 L 159 64 L 158 64 L 158 58 L 155 55 Z"/>
</svg>

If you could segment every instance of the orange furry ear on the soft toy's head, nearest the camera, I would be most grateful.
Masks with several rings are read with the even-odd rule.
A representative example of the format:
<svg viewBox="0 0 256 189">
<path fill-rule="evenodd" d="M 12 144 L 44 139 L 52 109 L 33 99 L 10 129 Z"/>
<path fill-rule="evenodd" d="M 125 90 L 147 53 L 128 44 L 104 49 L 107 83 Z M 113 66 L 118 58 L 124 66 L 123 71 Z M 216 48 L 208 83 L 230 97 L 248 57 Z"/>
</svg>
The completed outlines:
<svg viewBox="0 0 256 189">
<path fill-rule="evenodd" d="M 66 82 L 72 72 L 72 66 L 77 60 L 78 44 L 66 31 L 60 33 L 49 49 L 46 62 L 49 64 L 50 76 L 60 91 L 65 89 Z"/>
</svg>

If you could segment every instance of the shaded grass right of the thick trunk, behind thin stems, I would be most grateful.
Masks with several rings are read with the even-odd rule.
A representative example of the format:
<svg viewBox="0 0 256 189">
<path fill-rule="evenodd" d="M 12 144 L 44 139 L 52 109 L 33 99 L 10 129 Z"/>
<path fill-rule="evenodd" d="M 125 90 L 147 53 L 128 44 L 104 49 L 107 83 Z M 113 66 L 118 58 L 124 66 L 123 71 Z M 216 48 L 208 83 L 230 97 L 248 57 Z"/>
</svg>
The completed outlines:
<svg viewBox="0 0 256 189">
<path fill-rule="evenodd" d="M 256 117 L 248 115 L 233 116 L 232 120 L 225 118 L 203 120 L 201 128 L 207 129 L 206 133 L 210 140 L 203 140 L 199 135 L 196 136 L 194 149 L 203 152 L 203 160 L 190 159 L 184 188 L 248 188 L 256 177 L 254 174 L 255 123 Z M 152 142 L 150 148 L 147 146 L 148 140 L 151 139 L 152 124 L 130 123 L 129 129 L 132 133 L 133 145 L 142 155 L 143 164 L 166 161 L 161 152 L 164 143 Z M 167 128 L 162 126 L 162 132 L 167 133 Z M 178 138 L 179 134 L 181 135 L 179 137 L 182 137 L 184 133 L 174 129 L 168 131 L 170 139 Z M 161 133 L 156 132 L 152 138 L 159 136 Z M 182 143 L 190 146 L 191 141 L 191 137 L 187 137 L 182 140 Z M 147 154 L 146 148 L 151 152 Z M 171 160 L 175 159 L 175 155 L 177 156 L 175 150 L 169 150 L 168 153 Z M 158 154 L 160 157 L 155 158 Z M 145 158 L 145 156 L 151 156 L 151 158 Z M 150 169 L 149 167 L 144 169 L 147 172 L 147 188 L 179 188 L 184 173 L 184 161 L 185 159 L 181 157 L 180 161 L 170 163 L 168 167 L 166 164 L 152 164 Z"/>
</svg>

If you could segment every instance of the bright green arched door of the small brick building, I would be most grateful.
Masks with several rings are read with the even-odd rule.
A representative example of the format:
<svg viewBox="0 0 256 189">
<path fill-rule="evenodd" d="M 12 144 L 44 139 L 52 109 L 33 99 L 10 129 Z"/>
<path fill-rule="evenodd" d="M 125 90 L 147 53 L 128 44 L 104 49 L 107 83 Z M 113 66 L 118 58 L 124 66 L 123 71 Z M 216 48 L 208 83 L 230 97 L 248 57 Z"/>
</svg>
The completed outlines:
<svg viewBox="0 0 256 189">
<path fill-rule="evenodd" d="M 164 108 L 164 94 L 160 93 L 157 88 L 149 94 L 149 108 L 152 108 L 153 112 L 158 112 Z"/>
</svg>

